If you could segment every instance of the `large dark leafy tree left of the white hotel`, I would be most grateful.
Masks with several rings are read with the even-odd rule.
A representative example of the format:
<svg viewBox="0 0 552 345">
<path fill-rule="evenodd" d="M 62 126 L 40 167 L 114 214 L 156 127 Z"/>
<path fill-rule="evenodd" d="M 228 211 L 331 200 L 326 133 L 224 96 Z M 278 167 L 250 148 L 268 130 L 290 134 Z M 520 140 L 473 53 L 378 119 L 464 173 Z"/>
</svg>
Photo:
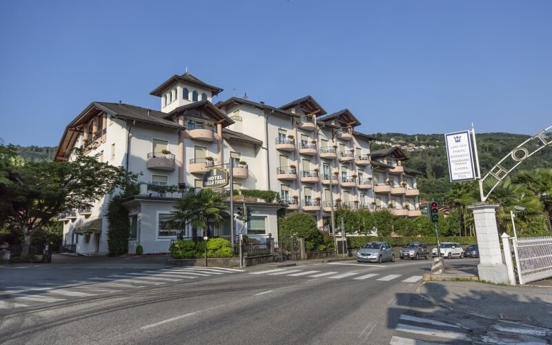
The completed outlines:
<svg viewBox="0 0 552 345">
<path fill-rule="evenodd" d="M 61 162 L 0 159 L 0 220 L 21 233 L 22 255 L 29 254 L 34 234 L 59 213 L 88 207 L 116 188 L 136 183 L 136 175 L 98 161 L 98 155 L 84 155 L 80 148 L 72 153 L 72 160 Z M 11 155 L 12 147 L 0 144 L 0 156 Z"/>
</svg>

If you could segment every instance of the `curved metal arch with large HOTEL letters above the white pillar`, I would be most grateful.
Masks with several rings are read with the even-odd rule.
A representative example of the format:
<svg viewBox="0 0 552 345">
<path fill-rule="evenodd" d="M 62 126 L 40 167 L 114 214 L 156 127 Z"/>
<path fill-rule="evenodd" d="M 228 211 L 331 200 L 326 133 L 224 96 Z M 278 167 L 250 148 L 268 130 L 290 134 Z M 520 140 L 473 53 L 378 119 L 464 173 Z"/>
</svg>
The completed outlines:
<svg viewBox="0 0 552 345">
<path fill-rule="evenodd" d="M 533 137 L 527 139 L 522 144 L 511 150 L 509 154 L 506 155 L 506 157 L 502 158 L 495 166 L 493 166 L 493 168 L 491 168 L 491 170 L 489 170 L 489 172 L 486 173 L 486 175 L 482 179 L 480 179 L 479 187 L 481 193 L 481 201 L 486 201 L 486 199 L 489 198 L 489 195 L 491 195 L 496 186 L 498 186 L 500 182 L 502 182 L 504 177 L 506 177 L 512 170 L 514 170 L 515 167 L 522 164 L 525 159 L 531 157 L 535 154 L 535 152 L 538 152 L 546 145 L 552 144 L 552 130 L 550 130 L 551 128 L 552 126 L 544 128 L 544 130 L 541 130 L 537 134 L 533 135 Z M 529 145 L 526 145 L 528 143 Z M 533 150 L 535 145 L 531 144 L 536 144 L 538 148 L 536 150 Z M 533 150 L 533 152 L 531 152 L 531 150 Z M 496 183 L 489 190 L 489 193 L 484 195 L 483 182 L 489 176 L 495 177 Z"/>
</svg>

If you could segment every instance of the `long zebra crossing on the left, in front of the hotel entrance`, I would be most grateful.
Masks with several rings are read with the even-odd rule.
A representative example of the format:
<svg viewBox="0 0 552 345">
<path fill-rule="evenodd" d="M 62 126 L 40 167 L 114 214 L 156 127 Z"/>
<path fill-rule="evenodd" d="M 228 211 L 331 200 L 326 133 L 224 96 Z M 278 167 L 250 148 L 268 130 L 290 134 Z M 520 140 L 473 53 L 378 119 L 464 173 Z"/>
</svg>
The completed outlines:
<svg viewBox="0 0 552 345">
<path fill-rule="evenodd" d="M 83 297 L 100 297 L 123 290 L 155 287 L 239 272 L 244 272 L 244 270 L 220 267 L 175 267 L 150 269 L 139 273 L 117 273 L 107 277 L 91 277 L 78 282 L 38 283 L 38 286 L 6 286 L 0 289 L 0 311 Z"/>
</svg>

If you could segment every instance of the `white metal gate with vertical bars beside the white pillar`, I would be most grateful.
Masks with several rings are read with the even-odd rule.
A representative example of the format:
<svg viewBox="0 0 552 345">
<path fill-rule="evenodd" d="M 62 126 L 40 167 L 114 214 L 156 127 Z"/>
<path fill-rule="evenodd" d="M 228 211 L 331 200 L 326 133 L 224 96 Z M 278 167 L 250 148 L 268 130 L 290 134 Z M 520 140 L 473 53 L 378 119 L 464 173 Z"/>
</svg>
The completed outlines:
<svg viewBox="0 0 552 345">
<path fill-rule="evenodd" d="M 552 237 L 513 238 L 520 284 L 552 277 Z"/>
</svg>

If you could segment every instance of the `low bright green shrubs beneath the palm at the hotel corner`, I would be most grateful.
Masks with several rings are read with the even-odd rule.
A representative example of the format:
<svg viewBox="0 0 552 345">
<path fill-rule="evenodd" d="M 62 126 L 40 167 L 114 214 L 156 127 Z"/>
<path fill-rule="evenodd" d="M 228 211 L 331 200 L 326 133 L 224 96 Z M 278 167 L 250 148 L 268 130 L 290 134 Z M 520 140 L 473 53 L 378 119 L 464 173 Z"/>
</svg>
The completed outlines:
<svg viewBox="0 0 552 345">
<path fill-rule="evenodd" d="M 175 259 L 205 257 L 233 257 L 233 250 L 228 239 L 213 238 L 205 241 L 193 242 L 191 239 L 177 239 L 169 247 L 171 257 Z"/>
</svg>

